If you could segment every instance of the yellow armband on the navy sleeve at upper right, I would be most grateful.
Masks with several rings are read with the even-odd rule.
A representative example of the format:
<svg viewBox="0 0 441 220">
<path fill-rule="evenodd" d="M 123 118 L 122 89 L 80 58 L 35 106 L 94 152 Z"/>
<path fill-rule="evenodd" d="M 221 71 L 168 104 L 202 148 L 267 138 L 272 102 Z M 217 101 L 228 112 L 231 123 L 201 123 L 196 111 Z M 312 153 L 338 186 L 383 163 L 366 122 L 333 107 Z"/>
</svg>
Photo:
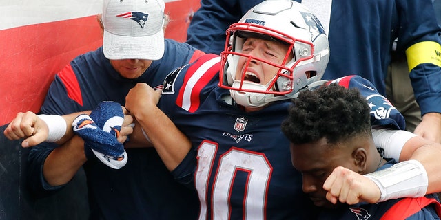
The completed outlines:
<svg viewBox="0 0 441 220">
<path fill-rule="evenodd" d="M 434 41 L 424 41 L 411 45 L 406 50 L 409 72 L 421 63 L 433 63 L 441 67 L 441 45 Z"/>
</svg>

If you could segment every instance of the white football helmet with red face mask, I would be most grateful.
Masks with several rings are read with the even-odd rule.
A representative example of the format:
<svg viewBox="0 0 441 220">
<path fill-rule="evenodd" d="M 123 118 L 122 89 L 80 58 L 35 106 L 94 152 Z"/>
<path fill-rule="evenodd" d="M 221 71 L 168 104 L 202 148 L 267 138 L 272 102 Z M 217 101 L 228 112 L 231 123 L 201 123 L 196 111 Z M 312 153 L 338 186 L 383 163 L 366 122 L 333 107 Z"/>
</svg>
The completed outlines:
<svg viewBox="0 0 441 220">
<path fill-rule="evenodd" d="M 242 45 L 247 37 L 287 44 L 285 63 L 278 65 L 243 54 Z M 232 98 L 242 106 L 262 107 L 276 100 L 294 98 L 299 90 L 319 81 L 329 61 L 329 44 L 320 21 L 304 5 L 291 0 L 267 0 L 229 27 L 225 50 L 220 56 L 220 87 L 229 89 Z M 235 80 L 240 57 L 247 58 L 246 66 L 240 79 Z M 278 67 L 274 79 L 267 85 L 245 80 L 252 61 Z"/>
</svg>

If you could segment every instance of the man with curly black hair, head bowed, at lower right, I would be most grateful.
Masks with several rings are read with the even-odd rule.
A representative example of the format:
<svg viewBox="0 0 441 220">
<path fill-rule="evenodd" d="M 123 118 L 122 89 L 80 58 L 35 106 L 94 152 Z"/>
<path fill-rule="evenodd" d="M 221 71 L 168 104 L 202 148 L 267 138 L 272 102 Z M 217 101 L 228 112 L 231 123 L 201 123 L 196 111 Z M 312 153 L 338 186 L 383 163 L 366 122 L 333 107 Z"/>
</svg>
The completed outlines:
<svg viewBox="0 0 441 220">
<path fill-rule="evenodd" d="M 433 194 L 351 206 L 327 201 L 321 186 L 334 169 L 366 175 L 396 161 L 377 150 L 370 107 L 357 89 L 331 84 L 302 91 L 293 102 L 282 131 L 291 142 L 293 165 L 302 173 L 303 191 L 322 207 L 318 219 L 439 219 L 441 205 Z"/>
</svg>

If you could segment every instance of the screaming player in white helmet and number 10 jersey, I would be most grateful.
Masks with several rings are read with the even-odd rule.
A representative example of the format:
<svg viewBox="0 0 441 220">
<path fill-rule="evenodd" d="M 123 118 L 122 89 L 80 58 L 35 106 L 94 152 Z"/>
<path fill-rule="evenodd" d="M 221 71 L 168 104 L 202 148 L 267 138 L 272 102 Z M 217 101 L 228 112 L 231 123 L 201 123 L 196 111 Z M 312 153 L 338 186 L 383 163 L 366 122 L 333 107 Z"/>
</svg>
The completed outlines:
<svg viewBox="0 0 441 220">
<path fill-rule="evenodd" d="M 174 178 L 196 187 L 199 219 L 311 219 L 315 206 L 302 192 L 280 124 L 298 91 L 325 83 L 320 78 L 329 46 L 322 25 L 294 1 L 265 1 L 232 25 L 226 45 L 221 56 L 207 54 L 174 70 L 162 91 L 145 83 L 130 89 L 125 107 L 139 123 L 130 142 L 152 142 Z M 335 82 L 365 96 L 374 140 L 389 146 L 388 157 L 422 160 L 424 167 L 404 163 L 402 184 L 410 187 L 400 195 L 436 190 L 439 146 L 388 130 L 404 129 L 404 119 L 369 80 L 347 76 Z M 415 172 L 411 179 L 408 170 Z M 381 180 L 360 181 L 362 188 L 336 182 L 330 199 L 342 198 L 339 192 L 347 188 L 369 202 L 397 196 Z"/>
</svg>

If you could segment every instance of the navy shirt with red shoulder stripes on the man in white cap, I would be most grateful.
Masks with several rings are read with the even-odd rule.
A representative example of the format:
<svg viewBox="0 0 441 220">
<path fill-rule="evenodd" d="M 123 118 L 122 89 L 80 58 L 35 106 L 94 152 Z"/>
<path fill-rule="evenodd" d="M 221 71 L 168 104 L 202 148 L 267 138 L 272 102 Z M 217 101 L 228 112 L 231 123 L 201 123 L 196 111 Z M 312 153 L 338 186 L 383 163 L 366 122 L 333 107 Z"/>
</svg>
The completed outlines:
<svg viewBox="0 0 441 220">
<path fill-rule="evenodd" d="M 136 79 L 127 79 L 105 58 L 103 48 L 76 57 L 61 70 L 41 107 L 41 113 L 65 115 L 92 110 L 100 102 L 112 100 L 125 104 L 125 96 L 136 83 L 161 87 L 165 76 L 176 67 L 203 54 L 193 47 L 165 40 L 163 58 Z M 39 194 L 57 190 L 45 182 L 42 173 L 45 158 L 54 144 L 34 146 L 29 157 L 29 178 Z M 83 165 L 88 179 L 90 219 L 195 219 L 198 197 L 174 181 L 154 148 L 126 149 L 127 164 L 114 170 L 98 159 Z"/>
</svg>

